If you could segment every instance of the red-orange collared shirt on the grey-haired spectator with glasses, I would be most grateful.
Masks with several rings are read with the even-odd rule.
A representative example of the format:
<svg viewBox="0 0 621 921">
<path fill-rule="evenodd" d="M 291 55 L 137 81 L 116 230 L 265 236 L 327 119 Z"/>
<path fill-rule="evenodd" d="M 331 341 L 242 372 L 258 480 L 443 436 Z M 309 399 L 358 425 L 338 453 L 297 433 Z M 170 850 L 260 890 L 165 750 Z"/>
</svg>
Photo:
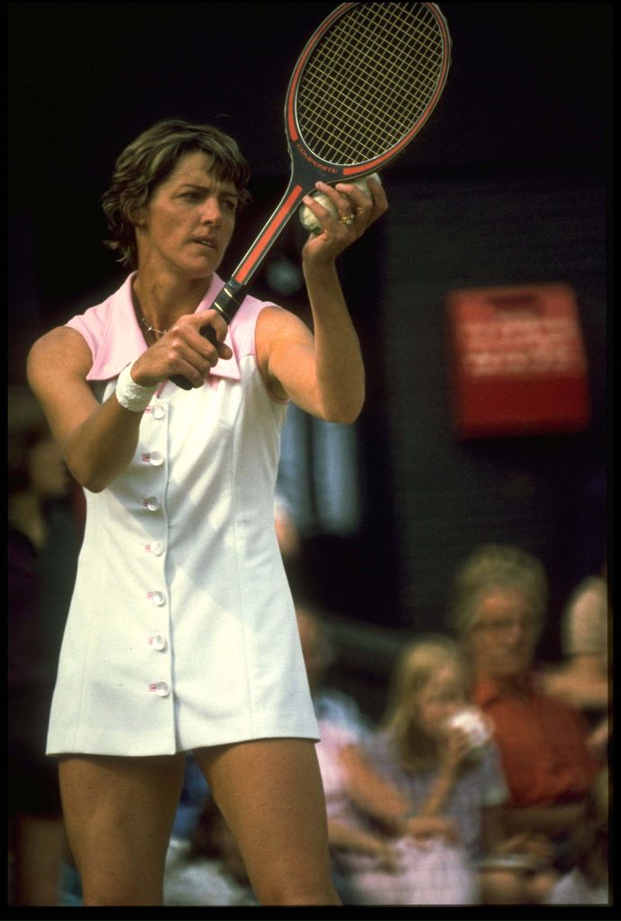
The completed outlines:
<svg viewBox="0 0 621 921">
<path fill-rule="evenodd" d="M 522 694 L 484 679 L 473 696 L 494 721 L 510 806 L 547 806 L 584 796 L 601 765 L 586 747 L 588 726 L 580 713 L 539 694 L 532 678 Z"/>
</svg>

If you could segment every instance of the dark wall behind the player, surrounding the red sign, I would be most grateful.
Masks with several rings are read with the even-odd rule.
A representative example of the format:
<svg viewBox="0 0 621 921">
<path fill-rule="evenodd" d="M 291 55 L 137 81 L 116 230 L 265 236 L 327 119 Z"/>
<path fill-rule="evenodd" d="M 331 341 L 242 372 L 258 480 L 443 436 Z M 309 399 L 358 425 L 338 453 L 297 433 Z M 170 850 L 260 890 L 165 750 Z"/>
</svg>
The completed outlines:
<svg viewBox="0 0 621 921">
<path fill-rule="evenodd" d="M 250 159 L 255 204 L 223 274 L 234 267 L 284 189 L 288 76 L 333 8 L 9 4 L 10 379 L 23 379 L 39 332 L 121 279 L 100 244 L 100 195 L 114 158 L 157 118 L 216 120 Z M 400 635 L 443 625 L 451 569 L 476 543 L 520 543 L 548 566 L 543 651 L 554 657 L 562 605 L 600 565 L 605 530 L 612 4 L 441 8 L 453 39 L 445 94 L 385 172 L 389 215 L 341 263 L 369 378 L 364 519 L 351 538 L 306 542 L 303 563 L 311 592 L 346 623 Z M 290 227 L 274 256 L 295 260 L 301 241 Z M 458 441 L 446 293 L 559 281 L 579 299 L 588 430 Z"/>
</svg>

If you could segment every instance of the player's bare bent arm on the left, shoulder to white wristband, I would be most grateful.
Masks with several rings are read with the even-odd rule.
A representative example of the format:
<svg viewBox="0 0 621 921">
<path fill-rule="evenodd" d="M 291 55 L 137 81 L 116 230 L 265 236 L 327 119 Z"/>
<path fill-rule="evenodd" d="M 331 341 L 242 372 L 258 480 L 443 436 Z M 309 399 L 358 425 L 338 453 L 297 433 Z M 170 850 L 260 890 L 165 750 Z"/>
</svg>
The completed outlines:
<svg viewBox="0 0 621 921">
<path fill-rule="evenodd" d="M 28 379 L 67 467 L 80 485 L 99 493 L 134 457 L 142 413 L 123 409 L 114 394 L 98 402 L 87 383 L 91 365 L 86 340 L 62 326 L 33 344 Z"/>
</svg>

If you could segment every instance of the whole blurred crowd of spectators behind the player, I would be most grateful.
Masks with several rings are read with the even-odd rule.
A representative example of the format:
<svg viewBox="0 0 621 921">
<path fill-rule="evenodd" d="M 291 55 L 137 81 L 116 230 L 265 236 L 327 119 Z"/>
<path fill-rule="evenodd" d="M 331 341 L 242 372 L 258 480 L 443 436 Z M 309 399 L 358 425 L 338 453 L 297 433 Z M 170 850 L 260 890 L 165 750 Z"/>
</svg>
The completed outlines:
<svg viewBox="0 0 621 921">
<path fill-rule="evenodd" d="M 299 554 L 286 503 L 281 549 Z M 9 902 L 78 905 L 44 740 L 79 521 L 58 449 L 27 391 L 9 394 Z M 544 566 L 512 545 L 451 574 L 438 633 L 393 663 L 385 714 L 338 690 L 331 614 L 297 600 L 334 881 L 344 904 L 610 904 L 611 609 L 606 571 L 576 589 L 563 660 L 538 659 Z M 191 755 L 165 904 L 256 904 Z"/>
</svg>

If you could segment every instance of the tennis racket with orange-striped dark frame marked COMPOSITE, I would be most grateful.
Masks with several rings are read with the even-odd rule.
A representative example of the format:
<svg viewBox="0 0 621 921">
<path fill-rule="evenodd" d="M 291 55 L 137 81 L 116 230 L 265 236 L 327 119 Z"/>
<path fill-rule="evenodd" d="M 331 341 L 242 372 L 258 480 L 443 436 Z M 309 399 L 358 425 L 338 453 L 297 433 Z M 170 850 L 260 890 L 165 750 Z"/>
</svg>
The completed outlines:
<svg viewBox="0 0 621 921">
<path fill-rule="evenodd" d="M 212 309 L 230 323 L 252 275 L 315 182 L 354 181 L 404 151 L 438 104 L 451 36 L 433 3 L 344 3 L 312 34 L 287 89 L 287 191 Z M 214 342 L 215 333 L 203 333 Z M 184 390 L 189 380 L 170 378 Z"/>
</svg>

